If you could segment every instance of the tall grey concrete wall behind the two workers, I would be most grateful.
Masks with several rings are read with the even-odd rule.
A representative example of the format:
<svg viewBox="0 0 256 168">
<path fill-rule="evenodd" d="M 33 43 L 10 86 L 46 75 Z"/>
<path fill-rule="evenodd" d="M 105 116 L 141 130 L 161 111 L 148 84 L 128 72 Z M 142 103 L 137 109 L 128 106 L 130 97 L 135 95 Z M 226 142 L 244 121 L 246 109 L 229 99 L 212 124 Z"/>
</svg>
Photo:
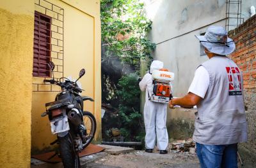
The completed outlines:
<svg viewBox="0 0 256 168">
<path fill-rule="evenodd" d="M 157 44 L 153 56 L 155 60 L 163 61 L 164 66 L 175 73 L 173 81 L 175 97 L 186 95 L 196 67 L 208 59 L 206 55 L 200 56 L 200 43 L 195 35 L 205 32 L 209 25 L 225 27 L 225 2 L 225 0 L 145 1 L 147 15 L 153 22 L 149 37 Z M 245 20 L 249 16 L 248 8 L 252 4 L 256 4 L 256 1 L 243 1 L 242 11 Z M 193 115 L 193 110 L 168 109 L 169 132 L 172 132 L 173 120 L 188 122 L 191 125 Z"/>
</svg>

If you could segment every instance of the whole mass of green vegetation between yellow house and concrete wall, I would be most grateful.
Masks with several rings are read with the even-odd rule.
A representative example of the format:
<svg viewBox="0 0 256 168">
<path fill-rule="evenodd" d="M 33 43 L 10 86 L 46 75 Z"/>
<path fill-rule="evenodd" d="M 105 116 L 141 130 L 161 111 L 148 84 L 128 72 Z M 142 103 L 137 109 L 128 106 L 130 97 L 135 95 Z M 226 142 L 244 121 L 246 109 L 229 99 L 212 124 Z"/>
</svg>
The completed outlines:
<svg viewBox="0 0 256 168">
<path fill-rule="evenodd" d="M 120 129 L 125 141 L 142 141 L 138 73 L 141 59 L 152 59 L 155 45 L 147 38 L 152 22 L 143 3 L 135 0 L 101 0 L 102 102 L 118 111 L 102 120 L 102 137 L 109 140 L 112 127 Z M 114 110 L 115 111 L 115 110 Z"/>
</svg>

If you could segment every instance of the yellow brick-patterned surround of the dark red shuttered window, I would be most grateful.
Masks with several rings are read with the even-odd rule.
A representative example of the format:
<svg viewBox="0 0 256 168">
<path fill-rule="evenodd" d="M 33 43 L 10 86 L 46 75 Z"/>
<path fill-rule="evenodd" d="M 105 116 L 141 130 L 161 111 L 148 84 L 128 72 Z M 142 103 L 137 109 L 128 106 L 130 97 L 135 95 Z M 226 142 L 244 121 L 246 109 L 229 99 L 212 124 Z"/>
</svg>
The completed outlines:
<svg viewBox="0 0 256 168">
<path fill-rule="evenodd" d="M 64 9 L 45 0 L 35 0 L 35 11 L 51 17 L 51 61 L 55 64 L 54 78 L 63 76 L 63 31 Z M 40 77 L 33 78 L 33 92 L 60 92 L 60 87 L 43 83 Z"/>
</svg>

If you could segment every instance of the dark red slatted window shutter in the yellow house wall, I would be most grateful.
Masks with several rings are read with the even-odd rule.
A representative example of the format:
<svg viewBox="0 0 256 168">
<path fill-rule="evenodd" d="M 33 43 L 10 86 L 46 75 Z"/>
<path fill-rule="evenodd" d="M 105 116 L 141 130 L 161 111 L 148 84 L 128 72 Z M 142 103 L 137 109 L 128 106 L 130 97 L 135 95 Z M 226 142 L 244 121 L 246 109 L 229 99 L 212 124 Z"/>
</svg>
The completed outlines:
<svg viewBox="0 0 256 168">
<path fill-rule="evenodd" d="M 33 76 L 51 77 L 51 17 L 35 11 Z"/>
</svg>

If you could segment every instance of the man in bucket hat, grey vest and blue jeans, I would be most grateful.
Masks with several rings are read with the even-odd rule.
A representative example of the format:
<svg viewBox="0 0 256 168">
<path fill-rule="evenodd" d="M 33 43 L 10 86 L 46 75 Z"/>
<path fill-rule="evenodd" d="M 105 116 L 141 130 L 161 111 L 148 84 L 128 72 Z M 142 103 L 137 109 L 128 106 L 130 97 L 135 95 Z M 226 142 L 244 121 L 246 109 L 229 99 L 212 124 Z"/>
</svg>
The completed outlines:
<svg viewBox="0 0 256 168">
<path fill-rule="evenodd" d="M 247 141 L 243 74 L 225 56 L 236 45 L 219 26 L 209 27 L 196 38 L 209 60 L 196 69 L 188 94 L 172 99 L 169 105 L 197 106 L 193 140 L 201 167 L 237 167 L 237 143 Z"/>
</svg>

